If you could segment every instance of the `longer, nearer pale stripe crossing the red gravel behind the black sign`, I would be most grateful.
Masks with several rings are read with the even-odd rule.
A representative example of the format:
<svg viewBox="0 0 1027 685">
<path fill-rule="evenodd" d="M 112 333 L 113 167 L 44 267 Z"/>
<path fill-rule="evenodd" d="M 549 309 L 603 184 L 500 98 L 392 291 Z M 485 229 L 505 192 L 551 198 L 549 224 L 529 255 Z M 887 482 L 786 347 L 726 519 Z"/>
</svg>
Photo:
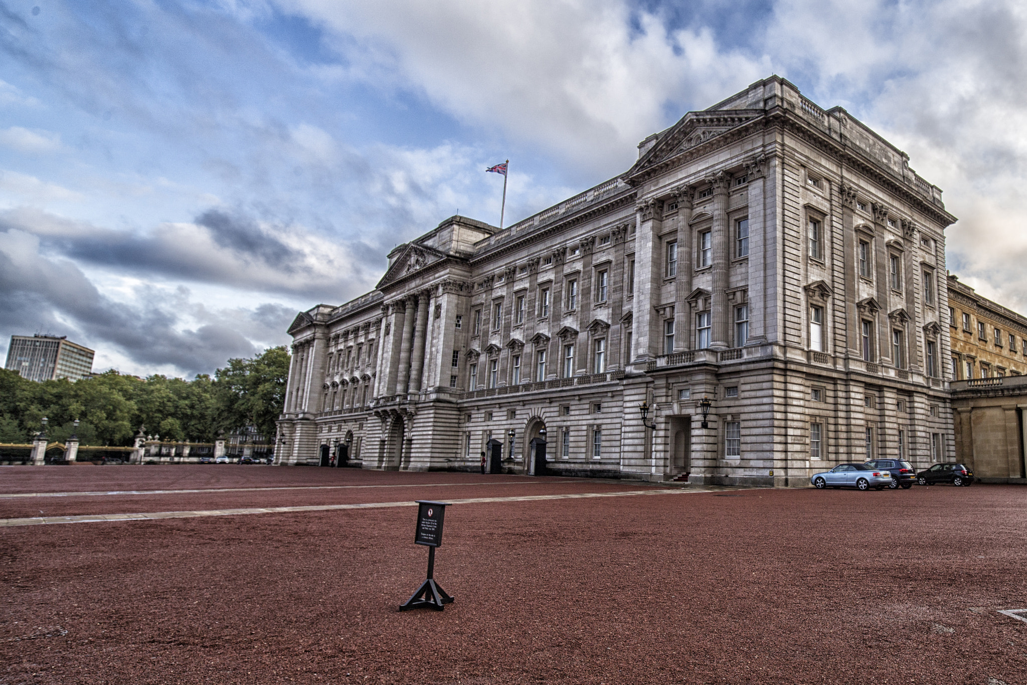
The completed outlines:
<svg viewBox="0 0 1027 685">
<path fill-rule="evenodd" d="M 667 490 L 629 490 L 622 492 L 582 492 L 565 495 L 520 495 L 515 497 L 472 497 L 451 499 L 450 504 L 484 504 L 489 502 L 531 502 L 547 499 L 583 499 L 593 497 L 633 497 L 638 495 L 680 495 L 714 492 L 673 488 Z M 381 509 L 394 506 L 417 506 L 417 502 L 367 502 L 363 504 L 314 504 L 310 506 L 266 506 L 244 509 L 207 509 L 197 511 L 153 511 L 150 513 L 90 513 L 73 517 L 36 517 L 32 519 L 0 519 L 0 528 L 41 526 L 47 524 L 100 523 L 105 521 L 148 521 L 155 519 L 194 519 L 197 517 L 232 517 L 246 513 L 292 513 L 297 511 L 335 511 L 340 509 Z"/>
</svg>

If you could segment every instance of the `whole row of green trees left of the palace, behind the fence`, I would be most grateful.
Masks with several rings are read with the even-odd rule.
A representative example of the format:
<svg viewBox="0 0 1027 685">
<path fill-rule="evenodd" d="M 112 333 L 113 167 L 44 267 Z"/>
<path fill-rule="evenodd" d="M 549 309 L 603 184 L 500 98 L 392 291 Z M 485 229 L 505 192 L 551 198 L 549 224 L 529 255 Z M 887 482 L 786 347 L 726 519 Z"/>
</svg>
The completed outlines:
<svg viewBox="0 0 1027 685">
<path fill-rule="evenodd" d="M 216 378 L 201 374 L 191 381 L 108 371 L 75 383 L 35 383 L 0 369 L 0 443 L 30 441 L 44 416 L 49 440 L 64 443 L 77 433 L 81 445 L 130 445 L 141 426 L 169 441 L 208 443 L 219 430 L 249 425 L 273 436 L 288 374 L 284 347 L 229 359 Z"/>
</svg>

